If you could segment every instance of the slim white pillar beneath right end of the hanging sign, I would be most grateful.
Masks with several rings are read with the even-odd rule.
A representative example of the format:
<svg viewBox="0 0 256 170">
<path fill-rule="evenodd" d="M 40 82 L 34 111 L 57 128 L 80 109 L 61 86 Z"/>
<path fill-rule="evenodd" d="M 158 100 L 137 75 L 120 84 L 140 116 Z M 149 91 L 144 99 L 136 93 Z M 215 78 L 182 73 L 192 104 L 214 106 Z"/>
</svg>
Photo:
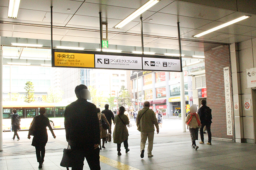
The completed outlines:
<svg viewBox="0 0 256 170">
<path fill-rule="evenodd" d="M 182 115 L 182 132 L 186 132 L 186 110 L 185 110 L 185 91 L 184 91 L 184 73 L 180 72 L 180 109 Z"/>
</svg>

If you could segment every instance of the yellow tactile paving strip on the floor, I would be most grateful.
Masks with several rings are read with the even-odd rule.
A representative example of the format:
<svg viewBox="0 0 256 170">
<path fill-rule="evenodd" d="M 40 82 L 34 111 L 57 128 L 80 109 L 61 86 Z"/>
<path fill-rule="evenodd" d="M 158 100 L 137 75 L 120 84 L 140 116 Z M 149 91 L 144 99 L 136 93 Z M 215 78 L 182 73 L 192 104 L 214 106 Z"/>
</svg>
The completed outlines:
<svg viewBox="0 0 256 170">
<path fill-rule="evenodd" d="M 129 165 L 109 159 L 101 155 L 100 155 L 100 162 L 106 163 L 107 165 L 110 165 L 111 167 L 117 168 L 119 170 L 139 170 L 137 168 L 130 167 Z"/>
</svg>

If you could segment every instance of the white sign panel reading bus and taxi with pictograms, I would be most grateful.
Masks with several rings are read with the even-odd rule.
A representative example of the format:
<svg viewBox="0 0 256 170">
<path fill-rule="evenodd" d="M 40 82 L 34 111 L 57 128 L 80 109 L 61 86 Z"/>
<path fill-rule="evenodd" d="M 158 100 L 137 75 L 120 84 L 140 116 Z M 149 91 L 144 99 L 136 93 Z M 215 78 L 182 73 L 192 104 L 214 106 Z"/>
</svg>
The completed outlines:
<svg viewBox="0 0 256 170">
<path fill-rule="evenodd" d="M 180 59 L 143 57 L 143 70 L 181 71 Z"/>
</svg>

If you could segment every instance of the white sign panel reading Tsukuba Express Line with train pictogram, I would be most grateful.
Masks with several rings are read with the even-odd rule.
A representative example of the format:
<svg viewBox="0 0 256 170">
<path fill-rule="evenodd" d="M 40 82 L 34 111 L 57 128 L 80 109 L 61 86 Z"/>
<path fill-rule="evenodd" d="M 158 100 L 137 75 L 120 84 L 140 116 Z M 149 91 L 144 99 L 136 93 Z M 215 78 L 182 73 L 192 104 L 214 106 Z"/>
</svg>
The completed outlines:
<svg viewBox="0 0 256 170">
<path fill-rule="evenodd" d="M 141 57 L 95 54 L 95 68 L 142 70 Z"/>
</svg>

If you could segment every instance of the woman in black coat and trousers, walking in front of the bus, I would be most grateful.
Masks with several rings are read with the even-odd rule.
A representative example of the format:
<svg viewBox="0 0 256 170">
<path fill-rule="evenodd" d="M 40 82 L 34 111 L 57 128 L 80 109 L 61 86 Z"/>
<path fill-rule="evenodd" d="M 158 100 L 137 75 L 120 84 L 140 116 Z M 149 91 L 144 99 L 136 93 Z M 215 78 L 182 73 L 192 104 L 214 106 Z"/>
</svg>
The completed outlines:
<svg viewBox="0 0 256 170">
<path fill-rule="evenodd" d="M 49 130 L 52 133 L 54 139 L 56 138 L 54 131 L 50 125 L 49 119 L 44 116 L 45 108 L 41 107 L 39 110 L 40 115 L 35 116 L 33 121 L 31 122 L 29 131 L 28 131 L 28 139 L 30 139 L 30 135 L 33 135 L 32 146 L 36 148 L 36 159 L 39 163 L 38 168 L 42 168 L 42 164 L 45 157 L 45 145 L 48 141 L 48 134 L 46 127 L 48 126 Z"/>
</svg>

